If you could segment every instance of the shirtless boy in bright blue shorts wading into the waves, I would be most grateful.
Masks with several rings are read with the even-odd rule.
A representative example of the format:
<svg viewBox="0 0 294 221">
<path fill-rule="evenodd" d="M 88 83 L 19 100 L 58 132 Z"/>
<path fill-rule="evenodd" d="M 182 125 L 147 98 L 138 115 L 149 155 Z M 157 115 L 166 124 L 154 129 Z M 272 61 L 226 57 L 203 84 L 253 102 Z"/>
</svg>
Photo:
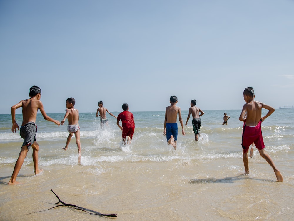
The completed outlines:
<svg viewBox="0 0 294 221">
<path fill-rule="evenodd" d="M 170 106 L 166 107 L 166 113 L 164 118 L 164 131 L 163 136 L 166 135 L 166 140 L 168 144 L 173 145 L 174 149 L 177 149 L 177 137 L 178 137 L 178 123 L 177 116 L 179 114 L 179 121 L 182 126 L 182 134 L 185 136 L 183 119 L 181 115 L 181 108 L 177 107 L 178 98 L 176 96 L 171 96 L 169 98 Z"/>
</svg>

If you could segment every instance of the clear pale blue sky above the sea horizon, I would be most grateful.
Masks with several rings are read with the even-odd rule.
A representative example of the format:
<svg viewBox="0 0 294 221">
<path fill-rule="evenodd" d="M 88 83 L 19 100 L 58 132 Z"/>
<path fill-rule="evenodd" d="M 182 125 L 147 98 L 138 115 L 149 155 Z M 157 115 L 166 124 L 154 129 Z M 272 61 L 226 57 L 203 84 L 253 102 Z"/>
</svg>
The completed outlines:
<svg viewBox="0 0 294 221">
<path fill-rule="evenodd" d="M 294 105 L 293 0 L 0 0 L 0 114 L 42 90 L 46 113 Z M 16 113 L 21 113 L 21 108 Z"/>
</svg>

